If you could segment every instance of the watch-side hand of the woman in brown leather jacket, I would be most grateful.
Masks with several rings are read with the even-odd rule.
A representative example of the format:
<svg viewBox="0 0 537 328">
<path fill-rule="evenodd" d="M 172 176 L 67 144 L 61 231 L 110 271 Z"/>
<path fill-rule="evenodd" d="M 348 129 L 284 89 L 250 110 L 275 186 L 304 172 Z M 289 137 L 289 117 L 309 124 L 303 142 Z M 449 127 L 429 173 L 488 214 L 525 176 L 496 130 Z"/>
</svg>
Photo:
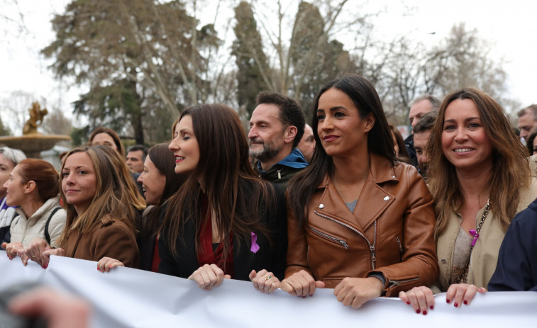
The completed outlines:
<svg viewBox="0 0 537 328">
<path fill-rule="evenodd" d="M 379 278 L 350 278 L 347 277 L 334 288 L 333 294 L 339 302 L 345 306 L 352 306 L 355 309 L 362 307 L 368 300 L 378 298 L 382 295 L 384 285 Z"/>
</svg>

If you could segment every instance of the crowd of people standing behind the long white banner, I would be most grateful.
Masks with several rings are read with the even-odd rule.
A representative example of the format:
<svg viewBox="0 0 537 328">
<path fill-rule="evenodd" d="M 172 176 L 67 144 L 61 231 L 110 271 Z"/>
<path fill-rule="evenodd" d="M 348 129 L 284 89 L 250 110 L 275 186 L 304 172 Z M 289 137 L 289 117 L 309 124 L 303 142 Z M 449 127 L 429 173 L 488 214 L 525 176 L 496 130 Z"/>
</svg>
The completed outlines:
<svg viewBox="0 0 537 328">
<path fill-rule="evenodd" d="M 0 239 L 10 259 L 50 255 L 345 306 L 433 295 L 469 305 L 487 290 L 537 289 L 537 106 L 519 135 L 484 92 L 416 98 L 413 133 L 389 125 L 374 86 L 348 74 L 314 100 L 262 91 L 248 134 L 223 104 L 182 111 L 171 141 L 125 152 L 109 128 L 58 173 L 0 149 Z M 524 145 L 526 143 L 526 145 Z M 527 147 L 526 147 L 527 146 Z"/>
</svg>

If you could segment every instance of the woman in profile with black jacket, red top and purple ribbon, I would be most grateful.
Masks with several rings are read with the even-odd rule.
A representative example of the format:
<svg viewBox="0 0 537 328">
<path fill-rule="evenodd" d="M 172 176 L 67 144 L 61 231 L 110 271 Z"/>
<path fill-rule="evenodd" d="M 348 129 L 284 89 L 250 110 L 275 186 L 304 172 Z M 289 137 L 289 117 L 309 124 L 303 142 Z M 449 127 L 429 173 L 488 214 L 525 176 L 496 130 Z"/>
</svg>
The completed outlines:
<svg viewBox="0 0 537 328">
<path fill-rule="evenodd" d="M 159 272 L 210 290 L 223 278 L 279 286 L 287 249 L 283 192 L 255 175 L 235 111 L 220 104 L 187 108 L 170 150 L 188 174 L 170 198 L 159 239 Z"/>
</svg>

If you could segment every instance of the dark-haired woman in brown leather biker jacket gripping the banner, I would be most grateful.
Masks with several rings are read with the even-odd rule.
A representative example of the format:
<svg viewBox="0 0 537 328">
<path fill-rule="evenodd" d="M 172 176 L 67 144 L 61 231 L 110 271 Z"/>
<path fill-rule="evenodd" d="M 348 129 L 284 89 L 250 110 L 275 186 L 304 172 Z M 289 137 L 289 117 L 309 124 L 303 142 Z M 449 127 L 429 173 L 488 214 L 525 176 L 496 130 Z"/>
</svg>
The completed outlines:
<svg viewBox="0 0 537 328">
<path fill-rule="evenodd" d="M 316 96 L 311 164 L 289 184 L 282 290 L 335 288 L 343 305 L 438 277 L 433 198 L 413 166 L 397 162 L 374 86 L 358 75 Z"/>
</svg>

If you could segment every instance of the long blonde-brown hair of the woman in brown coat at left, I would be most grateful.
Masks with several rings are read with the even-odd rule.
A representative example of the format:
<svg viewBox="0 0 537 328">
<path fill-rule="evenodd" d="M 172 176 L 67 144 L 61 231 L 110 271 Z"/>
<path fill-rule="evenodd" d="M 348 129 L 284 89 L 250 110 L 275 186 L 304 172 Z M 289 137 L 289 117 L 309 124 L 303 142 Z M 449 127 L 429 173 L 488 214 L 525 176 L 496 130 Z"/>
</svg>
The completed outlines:
<svg viewBox="0 0 537 328">
<path fill-rule="evenodd" d="M 72 149 L 65 159 L 72 154 L 85 152 L 92 159 L 96 176 L 96 191 L 92 203 L 82 213 L 77 213 L 74 206 L 67 203 L 63 188 L 60 188 L 63 207 L 67 210 L 67 222 L 65 229 L 57 239 L 57 244 L 65 247 L 64 242 L 70 232 L 78 230 L 80 233 L 89 232 L 95 225 L 99 224 L 102 218 L 110 217 L 114 220 L 121 220 L 129 227 L 133 227 L 134 208 L 128 202 L 126 196 L 126 186 L 123 183 L 118 168 L 107 152 L 110 147 L 106 146 L 80 146 Z M 115 152 L 111 149 L 112 152 Z M 62 163 L 62 172 L 65 161 Z M 63 174 L 60 175 L 60 185 L 63 181 Z"/>
</svg>

